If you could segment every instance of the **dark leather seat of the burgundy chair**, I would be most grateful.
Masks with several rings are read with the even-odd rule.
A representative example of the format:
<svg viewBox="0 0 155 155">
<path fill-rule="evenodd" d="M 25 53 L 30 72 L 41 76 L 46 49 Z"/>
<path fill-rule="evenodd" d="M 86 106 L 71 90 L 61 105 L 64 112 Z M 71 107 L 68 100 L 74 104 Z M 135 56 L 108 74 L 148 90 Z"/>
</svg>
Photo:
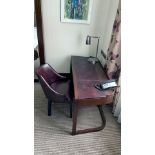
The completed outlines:
<svg viewBox="0 0 155 155">
<path fill-rule="evenodd" d="M 71 90 L 71 80 L 67 80 L 67 81 L 60 81 L 60 80 L 57 80 L 55 82 L 53 82 L 51 85 L 50 85 L 55 91 L 61 93 L 61 94 L 64 94 L 68 101 L 72 101 L 72 90 Z"/>
</svg>

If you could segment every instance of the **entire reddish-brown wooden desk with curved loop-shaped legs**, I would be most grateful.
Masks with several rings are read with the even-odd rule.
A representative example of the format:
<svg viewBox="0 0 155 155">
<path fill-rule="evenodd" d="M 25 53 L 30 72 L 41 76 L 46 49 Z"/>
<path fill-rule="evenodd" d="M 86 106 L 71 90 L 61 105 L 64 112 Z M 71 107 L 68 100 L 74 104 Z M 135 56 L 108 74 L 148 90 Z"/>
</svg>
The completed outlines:
<svg viewBox="0 0 155 155">
<path fill-rule="evenodd" d="M 108 80 L 101 64 L 95 65 L 87 61 L 88 57 L 72 56 L 71 69 L 74 85 L 74 102 L 73 102 L 73 127 L 72 135 L 95 132 L 105 127 L 106 119 L 102 110 L 103 104 L 110 104 L 113 101 L 113 91 L 99 91 L 94 85 L 101 81 Z M 102 125 L 96 128 L 76 130 L 78 110 L 81 106 L 95 105 L 98 107 Z"/>
</svg>

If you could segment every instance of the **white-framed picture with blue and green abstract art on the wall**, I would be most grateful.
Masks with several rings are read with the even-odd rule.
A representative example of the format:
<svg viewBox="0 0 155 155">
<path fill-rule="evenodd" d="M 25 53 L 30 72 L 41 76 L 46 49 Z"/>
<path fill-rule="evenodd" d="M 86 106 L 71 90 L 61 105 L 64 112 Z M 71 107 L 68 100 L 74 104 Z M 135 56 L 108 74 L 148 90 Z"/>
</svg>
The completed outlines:
<svg viewBox="0 0 155 155">
<path fill-rule="evenodd" d="M 93 0 L 61 0 L 61 22 L 90 24 Z"/>
</svg>

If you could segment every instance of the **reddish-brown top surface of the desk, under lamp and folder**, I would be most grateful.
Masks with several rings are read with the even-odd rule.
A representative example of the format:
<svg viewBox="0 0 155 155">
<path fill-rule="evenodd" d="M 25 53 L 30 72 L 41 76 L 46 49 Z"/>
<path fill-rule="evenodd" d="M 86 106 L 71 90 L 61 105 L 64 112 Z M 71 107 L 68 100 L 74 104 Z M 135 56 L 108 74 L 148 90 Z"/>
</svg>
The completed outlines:
<svg viewBox="0 0 155 155">
<path fill-rule="evenodd" d="M 88 61 L 88 57 L 72 56 L 71 63 L 75 100 L 112 95 L 111 90 L 100 91 L 94 87 L 95 84 L 108 80 L 100 62 L 93 65 Z"/>
</svg>

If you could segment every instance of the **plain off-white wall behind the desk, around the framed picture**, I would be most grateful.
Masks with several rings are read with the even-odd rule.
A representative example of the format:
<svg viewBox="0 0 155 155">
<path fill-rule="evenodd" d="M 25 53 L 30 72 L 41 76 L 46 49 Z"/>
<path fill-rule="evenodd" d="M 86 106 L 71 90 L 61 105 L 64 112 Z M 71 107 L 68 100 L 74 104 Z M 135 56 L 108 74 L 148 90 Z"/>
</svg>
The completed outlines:
<svg viewBox="0 0 155 155">
<path fill-rule="evenodd" d="M 60 0 L 42 0 L 45 62 L 59 73 L 70 71 L 71 55 L 95 56 L 96 41 L 85 45 L 86 36 L 101 36 L 100 49 L 106 52 L 119 0 L 94 0 L 91 23 L 60 22 Z"/>
</svg>

